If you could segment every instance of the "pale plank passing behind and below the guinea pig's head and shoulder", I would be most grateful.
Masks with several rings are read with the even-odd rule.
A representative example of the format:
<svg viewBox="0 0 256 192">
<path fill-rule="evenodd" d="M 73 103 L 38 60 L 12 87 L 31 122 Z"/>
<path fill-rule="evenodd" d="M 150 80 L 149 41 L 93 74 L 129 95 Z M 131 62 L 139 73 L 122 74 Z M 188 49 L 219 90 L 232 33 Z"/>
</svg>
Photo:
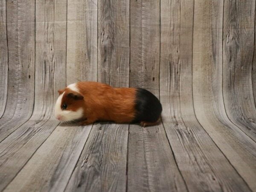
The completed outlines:
<svg viewBox="0 0 256 192">
<path fill-rule="evenodd" d="M 81 44 L 87 44 L 88 42 L 86 39 L 91 39 L 92 44 L 88 44 L 88 49 L 94 49 L 94 47 L 97 47 L 97 36 L 95 36 L 95 34 L 97 34 L 97 28 L 95 27 L 97 26 L 97 1 L 72 1 L 67 3 L 67 19 L 69 19 L 69 16 L 73 17 L 72 14 L 74 14 L 74 10 L 79 10 L 81 7 L 85 9 L 85 7 L 88 5 L 90 5 L 89 7 L 91 7 L 91 10 L 86 9 L 86 12 L 92 13 L 87 15 L 87 20 L 81 20 L 79 23 L 76 23 L 76 21 L 73 23 L 72 20 L 70 22 L 67 21 L 67 29 L 71 30 L 71 32 L 67 32 L 67 34 L 72 34 L 72 30 L 74 30 L 73 28 L 75 26 L 79 27 L 78 25 L 81 24 L 87 30 L 87 37 L 84 37 L 83 40 L 81 40 L 80 35 L 74 37 L 70 35 L 67 37 L 67 43 L 81 42 Z M 63 1 L 61 5 L 58 4 L 57 6 L 59 6 L 59 9 L 61 10 L 66 9 L 65 1 Z M 88 20 L 90 21 L 89 23 Z M 76 30 L 80 29 L 82 30 L 83 28 L 80 27 Z M 79 33 L 79 31 L 77 31 L 77 33 Z M 67 47 L 72 47 L 72 49 L 75 49 L 71 52 L 67 51 L 67 55 L 70 54 L 72 56 L 81 54 L 80 48 L 73 46 L 76 45 L 67 45 Z M 88 50 L 88 54 L 89 53 L 90 50 Z M 96 55 L 97 50 L 96 52 L 93 51 L 90 54 Z M 69 68 L 67 64 L 67 84 L 76 80 L 77 77 L 81 77 L 81 79 L 87 79 L 90 77 L 89 80 L 97 80 L 97 69 L 95 69 L 93 66 L 87 68 L 87 66 L 82 65 L 86 64 L 76 63 L 71 68 Z M 85 67 L 87 70 L 81 70 L 81 67 Z M 6 190 L 14 191 L 18 190 L 17 188 L 19 188 L 23 191 L 64 191 L 73 169 L 75 168 L 80 157 L 81 151 L 84 148 L 84 144 L 87 141 L 91 128 L 92 125 L 84 127 L 62 124 L 59 125 L 35 152 L 33 157 L 29 160 L 26 166 L 24 166 L 24 168 L 20 171 L 17 177 L 15 177 L 13 182 Z"/>
</svg>

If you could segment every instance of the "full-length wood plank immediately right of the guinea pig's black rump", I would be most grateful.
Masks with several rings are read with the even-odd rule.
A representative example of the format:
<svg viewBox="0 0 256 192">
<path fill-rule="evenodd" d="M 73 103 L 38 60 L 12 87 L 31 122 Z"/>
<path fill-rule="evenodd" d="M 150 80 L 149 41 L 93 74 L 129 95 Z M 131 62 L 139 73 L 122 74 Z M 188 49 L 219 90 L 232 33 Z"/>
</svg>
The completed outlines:
<svg viewBox="0 0 256 192">
<path fill-rule="evenodd" d="M 193 9 L 189 1 L 161 1 L 160 100 L 166 104 L 163 125 L 189 191 L 248 191 L 194 114 Z"/>
</svg>

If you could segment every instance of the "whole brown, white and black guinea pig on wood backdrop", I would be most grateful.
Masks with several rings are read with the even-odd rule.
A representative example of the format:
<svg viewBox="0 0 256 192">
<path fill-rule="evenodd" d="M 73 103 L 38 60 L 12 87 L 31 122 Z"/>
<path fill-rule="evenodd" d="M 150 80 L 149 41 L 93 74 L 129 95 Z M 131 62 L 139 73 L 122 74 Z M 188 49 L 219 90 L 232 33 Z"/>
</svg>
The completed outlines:
<svg viewBox="0 0 256 192">
<path fill-rule="evenodd" d="M 88 125 L 96 121 L 157 125 L 162 105 L 148 90 L 114 88 L 99 82 L 77 82 L 58 90 L 55 117 Z"/>
</svg>

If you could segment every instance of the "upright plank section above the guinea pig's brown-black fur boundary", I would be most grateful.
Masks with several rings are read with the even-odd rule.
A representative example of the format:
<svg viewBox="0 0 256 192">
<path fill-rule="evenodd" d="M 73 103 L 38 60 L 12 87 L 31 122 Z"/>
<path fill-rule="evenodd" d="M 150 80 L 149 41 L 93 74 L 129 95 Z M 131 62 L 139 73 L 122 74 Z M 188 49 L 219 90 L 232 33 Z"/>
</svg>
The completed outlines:
<svg viewBox="0 0 256 192">
<path fill-rule="evenodd" d="M 131 0 L 130 6 L 130 87 L 159 94 L 160 1 Z"/>
</svg>

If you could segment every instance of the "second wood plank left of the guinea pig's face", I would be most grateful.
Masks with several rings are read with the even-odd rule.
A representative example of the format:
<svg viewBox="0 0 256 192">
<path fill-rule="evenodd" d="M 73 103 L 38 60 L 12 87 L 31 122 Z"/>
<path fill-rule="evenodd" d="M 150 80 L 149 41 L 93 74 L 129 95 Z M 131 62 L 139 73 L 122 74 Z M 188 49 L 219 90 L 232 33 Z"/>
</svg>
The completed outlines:
<svg viewBox="0 0 256 192">
<path fill-rule="evenodd" d="M 8 90 L 0 142 L 29 119 L 34 105 L 35 2 L 6 1 L 6 12 Z"/>
</svg>

